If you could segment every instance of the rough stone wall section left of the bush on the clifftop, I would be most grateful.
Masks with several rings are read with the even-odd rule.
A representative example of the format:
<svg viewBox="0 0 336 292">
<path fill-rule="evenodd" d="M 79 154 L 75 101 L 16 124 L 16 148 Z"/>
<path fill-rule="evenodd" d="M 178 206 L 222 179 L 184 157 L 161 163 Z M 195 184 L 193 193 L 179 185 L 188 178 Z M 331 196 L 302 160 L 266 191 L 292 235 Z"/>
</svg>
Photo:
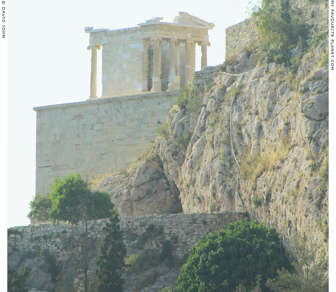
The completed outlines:
<svg viewBox="0 0 336 292">
<path fill-rule="evenodd" d="M 245 19 L 225 29 L 225 60 L 240 55 L 247 49 L 256 49 L 259 46 L 262 36 L 258 29 L 258 19 L 258 17 Z"/>
</svg>

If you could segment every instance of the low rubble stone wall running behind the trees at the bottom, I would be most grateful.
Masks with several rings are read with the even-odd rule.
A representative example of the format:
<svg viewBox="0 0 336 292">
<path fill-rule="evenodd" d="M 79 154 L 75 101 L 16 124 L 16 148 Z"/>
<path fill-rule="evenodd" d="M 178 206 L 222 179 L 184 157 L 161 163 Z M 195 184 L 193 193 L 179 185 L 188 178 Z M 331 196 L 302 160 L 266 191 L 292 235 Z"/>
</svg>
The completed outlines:
<svg viewBox="0 0 336 292">
<path fill-rule="evenodd" d="M 174 255 L 185 256 L 207 234 L 215 233 L 226 228 L 229 223 L 245 217 L 246 213 L 230 211 L 214 214 L 146 215 L 121 217 L 120 226 L 129 253 L 138 249 L 160 252 L 163 242 L 169 240 Z M 107 219 L 101 219 L 89 222 L 89 236 L 102 239 L 106 221 Z M 13 227 L 9 229 L 11 235 L 7 240 L 7 253 L 49 250 L 57 260 L 65 260 L 67 251 L 63 239 L 70 235 L 77 237 L 78 231 L 84 231 L 84 224 L 76 226 L 49 222 Z"/>
</svg>

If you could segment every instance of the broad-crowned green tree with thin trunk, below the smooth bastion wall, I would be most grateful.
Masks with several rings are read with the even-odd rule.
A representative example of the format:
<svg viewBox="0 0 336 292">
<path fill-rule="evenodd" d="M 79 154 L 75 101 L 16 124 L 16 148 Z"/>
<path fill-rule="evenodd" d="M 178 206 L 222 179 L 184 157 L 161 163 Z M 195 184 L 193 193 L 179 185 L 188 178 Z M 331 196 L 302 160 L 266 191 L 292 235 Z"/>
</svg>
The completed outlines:
<svg viewBox="0 0 336 292">
<path fill-rule="evenodd" d="M 71 255 L 77 259 L 83 273 L 84 291 L 88 292 L 88 271 L 94 258 L 92 251 L 96 247 L 96 240 L 89 237 L 88 221 L 109 218 L 114 214 L 114 204 L 108 193 L 92 191 L 79 173 L 70 174 L 63 180 L 55 179 L 51 189 L 52 192 L 46 199 L 35 197 L 28 217 L 31 215 L 30 218 L 42 219 L 48 213 L 49 219 L 53 221 L 68 221 L 70 224 L 84 222 L 84 233 L 79 234 L 79 239 L 69 245 L 69 248 L 73 247 Z"/>
</svg>

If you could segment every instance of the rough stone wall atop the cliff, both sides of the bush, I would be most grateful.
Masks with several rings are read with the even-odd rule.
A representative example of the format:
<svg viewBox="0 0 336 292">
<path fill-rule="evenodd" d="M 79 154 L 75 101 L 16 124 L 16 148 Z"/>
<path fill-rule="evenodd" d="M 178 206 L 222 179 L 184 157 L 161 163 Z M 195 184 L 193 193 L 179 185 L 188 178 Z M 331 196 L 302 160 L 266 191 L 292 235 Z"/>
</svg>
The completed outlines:
<svg viewBox="0 0 336 292">
<path fill-rule="evenodd" d="M 295 10 L 300 10 L 302 19 L 308 23 L 311 33 L 328 29 L 328 0 L 289 0 L 289 5 Z M 258 26 L 258 17 L 252 17 L 226 28 L 226 60 L 260 45 L 262 36 Z"/>
</svg>

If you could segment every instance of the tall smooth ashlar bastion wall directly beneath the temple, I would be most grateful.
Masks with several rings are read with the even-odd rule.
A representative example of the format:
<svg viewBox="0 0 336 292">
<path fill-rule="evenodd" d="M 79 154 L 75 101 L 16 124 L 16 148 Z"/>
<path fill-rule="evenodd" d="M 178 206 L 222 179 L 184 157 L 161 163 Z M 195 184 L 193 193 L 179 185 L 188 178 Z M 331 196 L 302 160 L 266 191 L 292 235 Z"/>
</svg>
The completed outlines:
<svg viewBox="0 0 336 292">
<path fill-rule="evenodd" d="M 179 91 L 146 93 L 34 108 L 36 192 L 79 172 L 92 181 L 130 166 L 157 137 Z"/>
</svg>

